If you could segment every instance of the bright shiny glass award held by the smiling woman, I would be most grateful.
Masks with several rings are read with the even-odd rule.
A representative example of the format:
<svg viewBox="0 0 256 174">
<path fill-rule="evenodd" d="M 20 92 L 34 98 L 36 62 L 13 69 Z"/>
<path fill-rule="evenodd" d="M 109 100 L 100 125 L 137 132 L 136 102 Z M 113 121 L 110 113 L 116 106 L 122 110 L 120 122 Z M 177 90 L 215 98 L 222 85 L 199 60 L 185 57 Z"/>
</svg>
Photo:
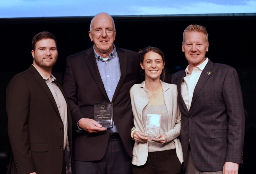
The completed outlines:
<svg viewBox="0 0 256 174">
<path fill-rule="evenodd" d="M 160 132 L 160 114 L 148 114 L 146 120 L 146 134 L 148 137 L 156 137 Z"/>
</svg>

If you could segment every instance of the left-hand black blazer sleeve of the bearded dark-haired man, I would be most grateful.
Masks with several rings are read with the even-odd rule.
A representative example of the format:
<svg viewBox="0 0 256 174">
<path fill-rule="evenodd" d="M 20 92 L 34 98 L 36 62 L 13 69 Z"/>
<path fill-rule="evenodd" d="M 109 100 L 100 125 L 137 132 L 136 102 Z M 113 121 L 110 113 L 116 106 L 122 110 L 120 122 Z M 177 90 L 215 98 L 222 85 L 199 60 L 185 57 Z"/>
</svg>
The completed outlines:
<svg viewBox="0 0 256 174">
<path fill-rule="evenodd" d="M 30 89 L 26 80 L 16 75 L 6 89 L 6 112 L 8 135 L 17 173 L 35 172 L 28 134 L 29 109 Z"/>
</svg>

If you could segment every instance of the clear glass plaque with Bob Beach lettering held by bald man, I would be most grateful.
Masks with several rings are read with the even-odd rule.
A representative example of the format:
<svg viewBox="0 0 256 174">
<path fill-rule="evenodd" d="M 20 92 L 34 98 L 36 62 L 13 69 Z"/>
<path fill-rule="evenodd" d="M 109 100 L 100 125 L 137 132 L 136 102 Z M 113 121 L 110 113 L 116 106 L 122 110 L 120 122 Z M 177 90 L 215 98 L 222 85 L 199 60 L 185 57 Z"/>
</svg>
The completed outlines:
<svg viewBox="0 0 256 174">
<path fill-rule="evenodd" d="M 94 120 L 102 127 L 113 128 L 113 103 L 94 104 Z"/>
</svg>

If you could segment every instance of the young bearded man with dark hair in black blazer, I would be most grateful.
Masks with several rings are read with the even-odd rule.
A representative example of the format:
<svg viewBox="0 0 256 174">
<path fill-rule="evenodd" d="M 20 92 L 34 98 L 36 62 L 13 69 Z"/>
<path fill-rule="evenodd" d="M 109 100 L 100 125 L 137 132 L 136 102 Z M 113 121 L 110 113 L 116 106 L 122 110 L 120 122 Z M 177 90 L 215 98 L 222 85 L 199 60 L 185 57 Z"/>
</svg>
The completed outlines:
<svg viewBox="0 0 256 174">
<path fill-rule="evenodd" d="M 72 120 L 65 94 L 51 74 L 58 56 L 56 38 L 49 32 L 36 34 L 31 53 L 33 65 L 15 75 L 6 89 L 12 148 L 7 173 L 66 174 Z"/>
</svg>

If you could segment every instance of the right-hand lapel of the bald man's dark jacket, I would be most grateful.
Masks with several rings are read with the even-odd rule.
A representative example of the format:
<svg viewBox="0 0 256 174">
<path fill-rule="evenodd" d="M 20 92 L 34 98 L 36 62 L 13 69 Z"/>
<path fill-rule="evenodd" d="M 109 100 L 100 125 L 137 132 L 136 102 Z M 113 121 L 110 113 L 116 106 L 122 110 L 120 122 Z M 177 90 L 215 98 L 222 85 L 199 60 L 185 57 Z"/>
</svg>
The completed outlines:
<svg viewBox="0 0 256 174">
<path fill-rule="evenodd" d="M 126 78 L 126 69 L 127 69 L 127 55 L 124 54 L 124 51 L 121 48 L 116 47 L 116 50 L 117 50 L 117 54 L 118 54 L 118 58 L 119 58 L 121 77 L 117 84 L 112 101 L 114 101 L 114 99 L 117 96 L 117 93 L 119 92 L 121 86 L 123 85 L 123 82 Z"/>
</svg>

